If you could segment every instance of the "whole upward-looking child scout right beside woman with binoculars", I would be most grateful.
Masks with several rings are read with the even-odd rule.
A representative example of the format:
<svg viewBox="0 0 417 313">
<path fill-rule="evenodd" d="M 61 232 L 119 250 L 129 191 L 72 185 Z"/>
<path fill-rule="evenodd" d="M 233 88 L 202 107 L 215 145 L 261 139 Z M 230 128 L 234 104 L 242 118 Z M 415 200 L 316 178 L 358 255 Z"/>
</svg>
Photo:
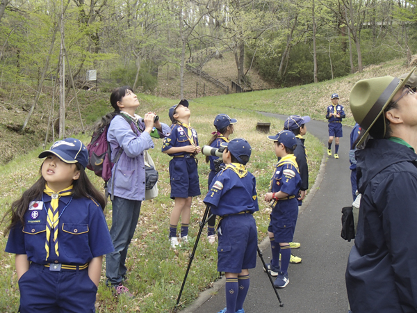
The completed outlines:
<svg viewBox="0 0 417 313">
<path fill-rule="evenodd" d="M 190 126 L 188 101 L 181 99 L 179 104 L 168 112 L 172 121 L 171 134 L 163 141 L 162 152 L 170 161 L 171 199 L 175 199 L 170 219 L 171 248 L 179 246 L 177 225 L 181 216 L 181 239 L 188 243 L 188 223 L 190 223 L 191 201 L 200 195 L 195 156 L 202 152 L 198 145 L 197 131 Z"/>
</svg>

